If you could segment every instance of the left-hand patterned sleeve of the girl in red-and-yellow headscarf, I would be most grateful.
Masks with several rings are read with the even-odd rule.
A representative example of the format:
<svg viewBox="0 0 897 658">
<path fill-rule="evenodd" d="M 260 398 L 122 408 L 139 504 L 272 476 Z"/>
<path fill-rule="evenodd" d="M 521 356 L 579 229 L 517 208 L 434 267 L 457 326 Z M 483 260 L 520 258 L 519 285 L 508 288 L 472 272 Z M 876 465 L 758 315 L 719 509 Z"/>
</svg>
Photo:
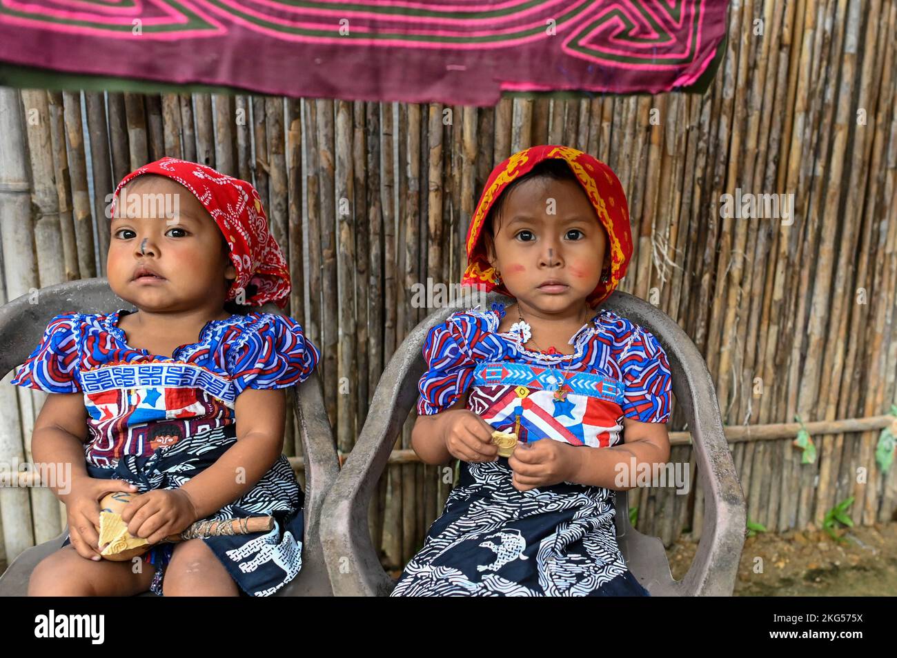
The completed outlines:
<svg viewBox="0 0 897 658">
<path fill-rule="evenodd" d="M 423 343 L 423 359 L 427 370 L 417 384 L 419 416 L 445 411 L 464 394 L 474 380 L 474 359 L 469 342 L 477 327 L 470 316 L 450 316 L 442 325 L 427 333 Z"/>
</svg>

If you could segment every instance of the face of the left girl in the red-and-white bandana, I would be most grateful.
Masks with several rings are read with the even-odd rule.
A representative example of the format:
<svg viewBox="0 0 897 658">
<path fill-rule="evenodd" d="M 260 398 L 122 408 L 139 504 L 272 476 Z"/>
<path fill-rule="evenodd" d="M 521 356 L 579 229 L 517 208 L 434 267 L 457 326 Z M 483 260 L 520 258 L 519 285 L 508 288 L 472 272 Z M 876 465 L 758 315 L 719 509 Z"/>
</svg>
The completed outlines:
<svg viewBox="0 0 897 658">
<path fill-rule="evenodd" d="M 220 311 L 237 272 L 196 196 L 170 178 L 146 174 L 123 188 L 117 205 L 107 274 L 118 297 L 155 312 Z"/>
</svg>

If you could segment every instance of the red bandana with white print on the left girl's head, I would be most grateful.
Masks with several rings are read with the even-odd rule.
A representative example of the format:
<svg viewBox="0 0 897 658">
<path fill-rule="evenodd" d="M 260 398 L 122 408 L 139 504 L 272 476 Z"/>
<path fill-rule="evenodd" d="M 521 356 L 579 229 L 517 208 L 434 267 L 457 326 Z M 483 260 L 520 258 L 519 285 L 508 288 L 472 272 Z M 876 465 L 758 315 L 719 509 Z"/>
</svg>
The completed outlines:
<svg viewBox="0 0 897 658">
<path fill-rule="evenodd" d="M 237 298 L 240 290 L 255 286 L 252 295 L 247 291 L 248 306 L 262 306 L 274 302 L 285 307 L 290 295 L 290 271 L 274 236 L 256 188 L 245 180 L 215 171 L 211 167 L 165 157 L 135 169 L 115 189 L 113 216 L 118 191 L 135 177 L 158 174 L 177 181 L 193 193 L 212 215 L 231 250 L 231 262 L 237 278 L 228 290 L 227 299 Z"/>
</svg>

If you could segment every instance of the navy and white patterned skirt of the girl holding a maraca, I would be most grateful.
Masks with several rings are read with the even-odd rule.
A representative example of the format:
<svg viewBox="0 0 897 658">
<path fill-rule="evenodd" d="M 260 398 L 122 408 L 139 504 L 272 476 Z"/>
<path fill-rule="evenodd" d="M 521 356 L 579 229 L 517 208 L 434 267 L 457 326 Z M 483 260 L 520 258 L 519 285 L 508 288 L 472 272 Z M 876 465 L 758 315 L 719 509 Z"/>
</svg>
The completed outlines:
<svg viewBox="0 0 897 658">
<path fill-rule="evenodd" d="M 236 443 L 231 425 L 194 437 L 180 439 L 152 455 L 124 455 L 113 468 L 87 465 L 91 478 L 111 478 L 131 482 L 136 493 L 152 489 L 177 489 L 203 472 Z M 269 596 L 289 583 L 302 566 L 302 538 L 305 519 L 304 495 L 290 462 L 281 455 L 256 485 L 230 505 L 208 516 L 210 520 L 274 516 L 271 532 L 224 535 L 203 539 L 239 585 L 240 594 Z M 66 536 L 63 546 L 70 543 Z M 176 544 L 161 543 L 144 555 L 156 568 L 150 591 L 162 595 L 165 567 Z"/>
</svg>

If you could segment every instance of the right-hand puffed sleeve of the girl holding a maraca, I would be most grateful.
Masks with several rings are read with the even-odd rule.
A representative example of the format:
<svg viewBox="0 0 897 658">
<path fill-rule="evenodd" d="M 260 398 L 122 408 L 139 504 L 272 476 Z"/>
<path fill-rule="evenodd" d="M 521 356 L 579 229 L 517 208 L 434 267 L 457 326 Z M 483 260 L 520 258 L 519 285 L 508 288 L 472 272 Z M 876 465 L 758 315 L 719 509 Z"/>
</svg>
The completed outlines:
<svg viewBox="0 0 897 658">
<path fill-rule="evenodd" d="M 231 381 L 241 394 L 247 388 L 287 388 L 305 381 L 318 365 L 320 352 L 286 316 L 257 314 L 258 320 L 228 352 Z"/>
</svg>

